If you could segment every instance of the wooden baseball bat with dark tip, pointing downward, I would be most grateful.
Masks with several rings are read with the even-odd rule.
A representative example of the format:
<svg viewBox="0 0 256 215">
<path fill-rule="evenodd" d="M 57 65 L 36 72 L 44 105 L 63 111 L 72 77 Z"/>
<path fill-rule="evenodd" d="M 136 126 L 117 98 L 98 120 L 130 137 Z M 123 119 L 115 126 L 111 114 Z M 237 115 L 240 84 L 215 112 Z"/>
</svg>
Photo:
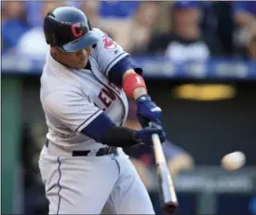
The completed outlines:
<svg viewBox="0 0 256 215">
<path fill-rule="evenodd" d="M 167 214 L 173 214 L 179 205 L 173 181 L 168 170 L 167 161 L 159 136 L 153 134 L 152 141 L 155 153 L 156 177 L 160 190 L 160 201 L 162 203 L 163 211 Z"/>
</svg>

